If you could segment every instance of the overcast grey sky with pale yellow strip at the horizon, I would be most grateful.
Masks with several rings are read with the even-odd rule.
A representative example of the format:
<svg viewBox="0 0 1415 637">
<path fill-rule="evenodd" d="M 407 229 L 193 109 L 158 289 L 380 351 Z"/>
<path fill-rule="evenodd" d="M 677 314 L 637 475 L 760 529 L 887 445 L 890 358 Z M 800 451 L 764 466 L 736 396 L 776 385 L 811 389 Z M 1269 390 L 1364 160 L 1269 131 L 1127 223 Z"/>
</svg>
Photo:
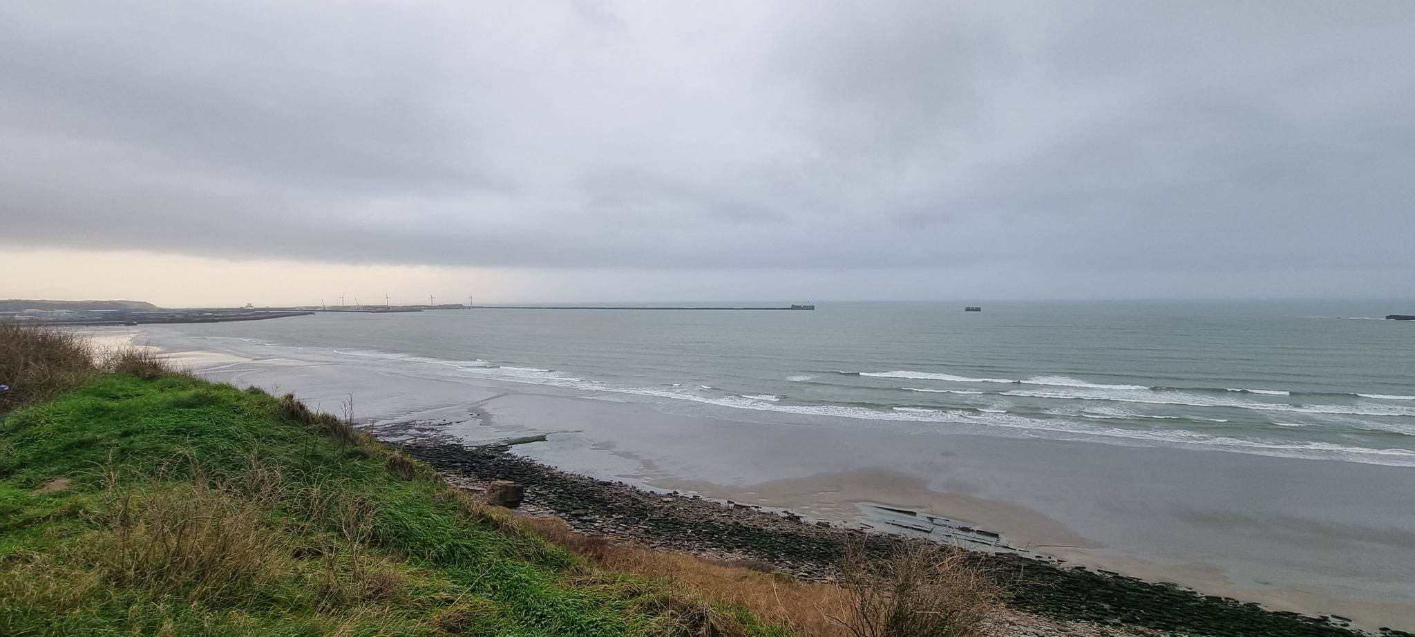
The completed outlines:
<svg viewBox="0 0 1415 637">
<path fill-rule="evenodd" d="M 1415 294 L 1411 1 L 0 4 L 0 297 Z"/>
</svg>

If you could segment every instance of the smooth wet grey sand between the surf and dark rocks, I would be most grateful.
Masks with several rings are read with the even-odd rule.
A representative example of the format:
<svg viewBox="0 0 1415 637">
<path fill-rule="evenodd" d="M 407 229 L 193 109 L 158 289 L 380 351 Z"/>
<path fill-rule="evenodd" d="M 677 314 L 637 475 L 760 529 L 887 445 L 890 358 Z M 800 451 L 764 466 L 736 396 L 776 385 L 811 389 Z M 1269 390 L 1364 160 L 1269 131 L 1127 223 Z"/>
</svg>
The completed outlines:
<svg viewBox="0 0 1415 637">
<path fill-rule="evenodd" d="M 543 385 L 454 378 L 328 352 L 139 335 L 208 378 L 294 392 L 374 422 L 434 420 L 518 453 L 658 490 L 867 522 L 863 503 L 1002 532 L 1073 563 L 1275 610 L 1415 627 L 1415 471 L 1224 452 L 852 429 L 664 413 Z"/>
</svg>

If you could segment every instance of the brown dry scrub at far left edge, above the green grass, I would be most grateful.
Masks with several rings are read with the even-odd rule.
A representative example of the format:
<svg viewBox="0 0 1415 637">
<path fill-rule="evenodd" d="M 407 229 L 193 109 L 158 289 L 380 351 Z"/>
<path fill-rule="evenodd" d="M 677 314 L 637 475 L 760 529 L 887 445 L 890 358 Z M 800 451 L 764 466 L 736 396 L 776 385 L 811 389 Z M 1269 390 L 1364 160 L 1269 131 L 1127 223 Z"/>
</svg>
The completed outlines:
<svg viewBox="0 0 1415 637">
<path fill-rule="evenodd" d="M 88 338 L 47 326 L 0 321 L 0 413 L 74 389 L 93 378 Z"/>
</svg>

